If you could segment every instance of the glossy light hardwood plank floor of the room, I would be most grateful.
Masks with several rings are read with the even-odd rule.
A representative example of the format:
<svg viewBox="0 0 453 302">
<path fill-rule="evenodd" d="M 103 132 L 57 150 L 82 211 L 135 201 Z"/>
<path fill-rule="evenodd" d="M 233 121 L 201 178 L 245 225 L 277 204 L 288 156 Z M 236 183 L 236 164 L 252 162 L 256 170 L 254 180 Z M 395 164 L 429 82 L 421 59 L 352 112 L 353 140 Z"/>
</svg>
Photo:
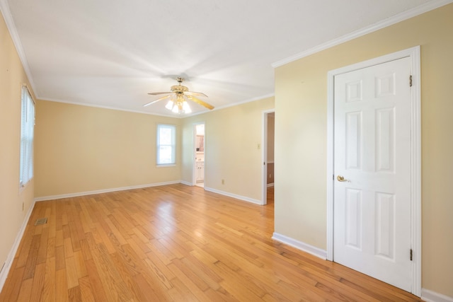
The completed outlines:
<svg viewBox="0 0 453 302">
<path fill-rule="evenodd" d="M 38 202 L 0 301 L 420 301 L 272 240 L 268 197 L 166 185 Z"/>
</svg>

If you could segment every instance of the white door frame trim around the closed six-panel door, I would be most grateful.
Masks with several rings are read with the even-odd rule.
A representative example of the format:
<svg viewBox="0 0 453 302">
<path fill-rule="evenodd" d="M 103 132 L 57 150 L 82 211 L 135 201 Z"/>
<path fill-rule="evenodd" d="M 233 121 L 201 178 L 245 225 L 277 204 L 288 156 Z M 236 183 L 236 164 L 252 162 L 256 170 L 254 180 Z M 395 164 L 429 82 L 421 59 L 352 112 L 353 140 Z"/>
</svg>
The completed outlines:
<svg viewBox="0 0 453 302">
<path fill-rule="evenodd" d="M 421 119 L 420 119 L 420 46 L 412 47 L 393 54 L 367 60 L 340 69 L 328 71 L 327 88 L 327 260 L 333 261 L 333 135 L 334 135 L 334 77 L 349 71 L 394 61 L 404 57 L 411 58 L 411 245 L 412 289 L 411 293 L 421 296 Z M 409 81 L 409 79 L 408 79 Z"/>
</svg>

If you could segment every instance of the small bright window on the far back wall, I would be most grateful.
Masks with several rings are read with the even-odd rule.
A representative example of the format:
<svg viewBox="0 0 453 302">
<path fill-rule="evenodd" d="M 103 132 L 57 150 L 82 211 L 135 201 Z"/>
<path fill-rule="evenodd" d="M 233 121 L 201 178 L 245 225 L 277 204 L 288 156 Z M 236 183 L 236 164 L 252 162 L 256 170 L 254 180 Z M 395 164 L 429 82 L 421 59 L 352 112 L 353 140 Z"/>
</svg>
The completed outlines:
<svg viewBox="0 0 453 302">
<path fill-rule="evenodd" d="M 174 165 L 176 127 L 171 124 L 157 125 L 157 164 Z"/>
</svg>

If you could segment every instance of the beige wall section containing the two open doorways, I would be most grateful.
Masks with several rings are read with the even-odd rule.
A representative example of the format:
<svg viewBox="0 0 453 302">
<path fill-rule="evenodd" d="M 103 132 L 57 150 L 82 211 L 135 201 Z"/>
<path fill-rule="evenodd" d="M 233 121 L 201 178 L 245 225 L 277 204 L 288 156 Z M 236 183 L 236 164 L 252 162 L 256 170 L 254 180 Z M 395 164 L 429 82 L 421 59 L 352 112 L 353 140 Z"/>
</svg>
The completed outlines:
<svg viewBox="0 0 453 302">
<path fill-rule="evenodd" d="M 207 112 L 183 120 L 183 180 L 192 182 L 193 125 L 205 122 L 205 187 L 261 200 L 263 111 L 274 98 Z M 225 180 L 222 185 L 222 179 Z"/>
</svg>

